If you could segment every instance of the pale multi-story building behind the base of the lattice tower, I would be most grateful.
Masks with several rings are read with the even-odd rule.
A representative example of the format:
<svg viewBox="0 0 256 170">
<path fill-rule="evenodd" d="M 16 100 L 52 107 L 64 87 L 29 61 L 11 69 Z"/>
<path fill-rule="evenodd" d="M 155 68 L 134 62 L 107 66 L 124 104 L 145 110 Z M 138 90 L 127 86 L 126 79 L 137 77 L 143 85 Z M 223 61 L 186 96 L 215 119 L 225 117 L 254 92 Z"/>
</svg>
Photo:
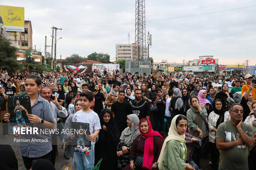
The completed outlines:
<svg viewBox="0 0 256 170">
<path fill-rule="evenodd" d="M 136 44 L 137 46 L 137 44 Z M 147 58 L 148 47 L 144 47 L 145 53 L 143 56 Z M 135 57 L 135 43 L 132 44 L 116 44 L 116 60 L 136 60 Z"/>
</svg>

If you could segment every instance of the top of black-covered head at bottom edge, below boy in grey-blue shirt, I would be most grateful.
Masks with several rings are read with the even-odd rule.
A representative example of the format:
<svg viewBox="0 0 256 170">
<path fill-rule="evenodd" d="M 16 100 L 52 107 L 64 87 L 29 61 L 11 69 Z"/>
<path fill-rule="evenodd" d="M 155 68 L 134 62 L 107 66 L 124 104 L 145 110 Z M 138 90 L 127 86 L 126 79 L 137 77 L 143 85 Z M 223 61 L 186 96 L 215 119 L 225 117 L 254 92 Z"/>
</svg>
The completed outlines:
<svg viewBox="0 0 256 170">
<path fill-rule="evenodd" d="M 32 170 L 56 170 L 48 159 L 36 159 L 32 161 Z"/>
</svg>

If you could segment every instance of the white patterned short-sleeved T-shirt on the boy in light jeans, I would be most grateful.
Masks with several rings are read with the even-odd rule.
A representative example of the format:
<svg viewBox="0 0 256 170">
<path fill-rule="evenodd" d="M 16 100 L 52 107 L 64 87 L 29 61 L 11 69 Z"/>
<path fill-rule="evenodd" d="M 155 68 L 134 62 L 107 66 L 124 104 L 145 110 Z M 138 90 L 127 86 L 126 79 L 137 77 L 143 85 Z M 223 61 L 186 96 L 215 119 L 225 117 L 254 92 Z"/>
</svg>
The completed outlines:
<svg viewBox="0 0 256 170">
<path fill-rule="evenodd" d="M 79 110 L 76 112 L 73 118 L 73 122 L 81 122 L 90 124 L 90 134 L 94 133 L 96 130 L 100 130 L 100 118 L 97 113 L 93 110 L 89 113 L 83 112 L 83 110 Z M 95 144 L 95 142 L 91 141 L 91 144 Z"/>
</svg>

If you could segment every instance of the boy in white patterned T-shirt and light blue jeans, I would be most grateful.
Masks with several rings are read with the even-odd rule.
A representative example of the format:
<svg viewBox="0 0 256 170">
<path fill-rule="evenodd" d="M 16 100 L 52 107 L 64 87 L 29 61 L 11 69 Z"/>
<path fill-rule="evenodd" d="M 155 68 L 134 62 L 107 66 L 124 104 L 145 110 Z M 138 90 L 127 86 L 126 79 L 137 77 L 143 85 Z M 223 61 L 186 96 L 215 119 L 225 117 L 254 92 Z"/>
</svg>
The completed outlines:
<svg viewBox="0 0 256 170">
<path fill-rule="evenodd" d="M 73 122 L 89 124 L 90 135 L 86 139 L 91 141 L 91 155 L 80 154 L 75 152 L 77 170 L 91 170 L 94 166 L 94 145 L 96 136 L 100 132 L 100 118 L 97 113 L 90 109 L 93 100 L 93 93 L 85 91 L 80 93 L 80 101 L 82 110 L 76 112 Z M 83 128 L 84 129 L 84 128 Z M 75 135 L 71 135 L 71 139 L 75 139 Z"/>
</svg>

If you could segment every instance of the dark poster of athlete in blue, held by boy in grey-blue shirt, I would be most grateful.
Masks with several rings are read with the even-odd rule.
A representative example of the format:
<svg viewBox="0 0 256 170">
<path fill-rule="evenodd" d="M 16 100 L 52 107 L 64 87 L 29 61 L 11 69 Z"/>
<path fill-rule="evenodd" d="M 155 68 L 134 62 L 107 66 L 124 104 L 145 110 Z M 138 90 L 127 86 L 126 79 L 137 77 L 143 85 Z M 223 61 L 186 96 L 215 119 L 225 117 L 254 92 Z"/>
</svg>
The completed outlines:
<svg viewBox="0 0 256 170">
<path fill-rule="evenodd" d="M 11 124 L 17 123 L 18 127 L 31 126 L 27 116 L 32 114 L 29 96 L 9 96 L 7 106 Z"/>
</svg>

